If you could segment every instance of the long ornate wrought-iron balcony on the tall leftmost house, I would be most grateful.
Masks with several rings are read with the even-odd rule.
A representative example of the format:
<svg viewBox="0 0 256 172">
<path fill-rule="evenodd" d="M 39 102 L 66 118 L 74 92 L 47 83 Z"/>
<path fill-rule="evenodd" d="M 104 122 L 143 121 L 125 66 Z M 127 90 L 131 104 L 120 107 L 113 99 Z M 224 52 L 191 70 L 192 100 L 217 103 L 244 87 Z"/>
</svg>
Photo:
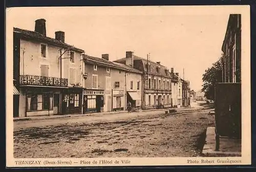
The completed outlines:
<svg viewBox="0 0 256 172">
<path fill-rule="evenodd" d="M 20 85 L 68 87 L 68 79 L 62 78 L 60 83 L 60 78 L 36 75 L 21 75 Z"/>
</svg>

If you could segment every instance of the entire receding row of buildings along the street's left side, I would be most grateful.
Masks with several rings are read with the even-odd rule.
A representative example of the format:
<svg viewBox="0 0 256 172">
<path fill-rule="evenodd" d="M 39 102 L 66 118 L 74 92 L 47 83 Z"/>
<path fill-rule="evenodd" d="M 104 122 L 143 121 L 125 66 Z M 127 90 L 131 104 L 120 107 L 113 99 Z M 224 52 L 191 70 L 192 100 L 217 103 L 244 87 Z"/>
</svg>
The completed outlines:
<svg viewBox="0 0 256 172">
<path fill-rule="evenodd" d="M 13 29 L 13 115 L 73 114 L 190 106 L 189 82 L 148 58 L 127 51 L 124 58 L 92 57 L 65 42 L 65 33 L 46 35 Z"/>
</svg>

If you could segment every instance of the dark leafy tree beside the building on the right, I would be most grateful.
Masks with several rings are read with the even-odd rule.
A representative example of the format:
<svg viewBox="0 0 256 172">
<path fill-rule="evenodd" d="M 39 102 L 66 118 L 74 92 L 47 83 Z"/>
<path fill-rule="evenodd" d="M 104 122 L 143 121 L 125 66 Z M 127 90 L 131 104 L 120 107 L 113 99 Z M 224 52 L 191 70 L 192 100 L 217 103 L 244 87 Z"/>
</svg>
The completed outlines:
<svg viewBox="0 0 256 172">
<path fill-rule="evenodd" d="M 223 56 L 223 55 L 222 55 Z M 222 82 L 222 66 L 223 58 L 212 64 L 210 68 L 205 70 L 203 74 L 203 91 L 205 97 L 209 100 L 215 100 L 215 86 L 217 83 Z"/>
</svg>

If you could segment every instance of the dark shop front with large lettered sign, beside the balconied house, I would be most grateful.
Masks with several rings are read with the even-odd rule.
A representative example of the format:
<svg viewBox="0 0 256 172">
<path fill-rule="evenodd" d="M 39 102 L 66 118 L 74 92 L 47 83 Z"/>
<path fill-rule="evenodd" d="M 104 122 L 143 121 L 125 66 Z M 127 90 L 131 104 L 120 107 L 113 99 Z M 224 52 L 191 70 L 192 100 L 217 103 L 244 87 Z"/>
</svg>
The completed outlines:
<svg viewBox="0 0 256 172">
<path fill-rule="evenodd" d="M 104 105 L 104 90 L 83 90 L 83 114 L 102 112 Z"/>
</svg>

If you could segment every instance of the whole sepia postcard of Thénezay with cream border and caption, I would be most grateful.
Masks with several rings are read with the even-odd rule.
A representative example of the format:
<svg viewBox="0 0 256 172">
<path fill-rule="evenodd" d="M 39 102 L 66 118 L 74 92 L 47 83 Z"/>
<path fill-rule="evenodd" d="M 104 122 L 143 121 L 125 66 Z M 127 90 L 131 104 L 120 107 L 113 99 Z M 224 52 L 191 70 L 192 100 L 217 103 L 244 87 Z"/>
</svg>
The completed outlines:
<svg viewBox="0 0 256 172">
<path fill-rule="evenodd" d="M 6 52 L 7 167 L 251 164 L 250 6 L 7 8 Z"/>
</svg>

